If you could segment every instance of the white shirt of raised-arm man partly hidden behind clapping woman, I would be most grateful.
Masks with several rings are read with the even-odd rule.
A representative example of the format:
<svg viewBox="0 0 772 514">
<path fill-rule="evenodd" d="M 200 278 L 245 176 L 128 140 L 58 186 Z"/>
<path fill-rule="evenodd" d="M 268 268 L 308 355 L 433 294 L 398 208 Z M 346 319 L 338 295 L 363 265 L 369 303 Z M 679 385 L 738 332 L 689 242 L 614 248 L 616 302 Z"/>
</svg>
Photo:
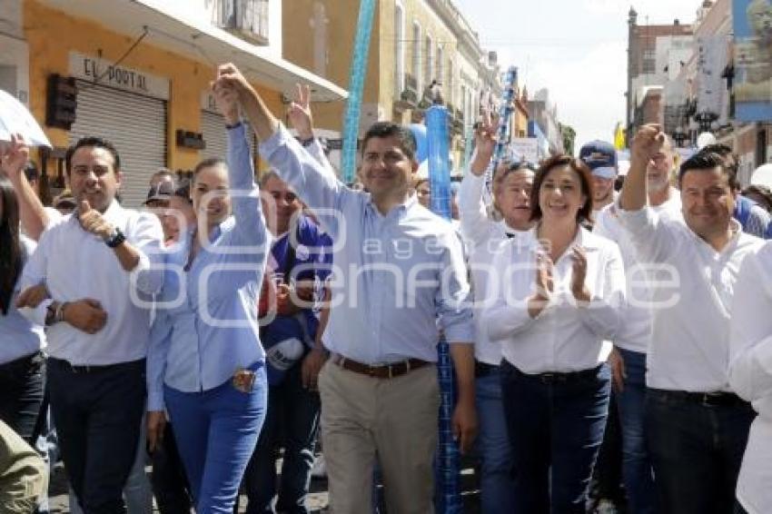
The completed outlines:
<svg viewBox="0 0 772 514">
<path fill-rule="evenodd" d="M 469 253 L 471 287 L 474 296 L 474 357 L 480 362 L 498 366 L 501 344 L 490 341 L 488 328 L 482 323 L 482 311 L 490 305 L 488 281 L 494 274 L 493 259 L 508 238 L 527 241 L 530 231 L 516 231 L 506 222 L 490 220 L 482 201 L 485 176 L 467 173 L 459 189 L 460 231 Z"/>
</svg>

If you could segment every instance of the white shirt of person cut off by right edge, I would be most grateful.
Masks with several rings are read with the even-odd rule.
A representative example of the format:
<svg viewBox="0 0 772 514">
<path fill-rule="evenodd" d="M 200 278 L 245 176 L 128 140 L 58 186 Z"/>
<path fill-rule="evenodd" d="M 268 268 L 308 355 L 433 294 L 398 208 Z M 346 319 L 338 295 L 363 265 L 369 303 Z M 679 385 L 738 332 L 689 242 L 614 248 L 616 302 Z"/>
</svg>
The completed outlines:
<svg viewBox="0 0 772 514">
<path fill-rule="evenodd" d="M 758 412 L 737 480 L 750 514 L 772 512 L 772 242 L 750 253 L 732 301 L 729 383 Z"/>
</svg>

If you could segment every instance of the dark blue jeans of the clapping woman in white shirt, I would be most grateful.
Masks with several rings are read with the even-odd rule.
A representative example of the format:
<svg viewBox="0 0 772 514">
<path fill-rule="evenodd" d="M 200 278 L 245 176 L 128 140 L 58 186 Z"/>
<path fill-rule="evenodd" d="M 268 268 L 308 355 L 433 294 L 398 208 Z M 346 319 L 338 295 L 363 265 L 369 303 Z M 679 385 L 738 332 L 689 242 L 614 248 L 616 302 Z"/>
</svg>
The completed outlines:
<svg viewBox="0 0 772 514">
<path fill-rule="evenodd" d="M 528 375 L 501 363 L 515 514 L 585 514 L 609 412 L 611 373 Z"/>
</svg>

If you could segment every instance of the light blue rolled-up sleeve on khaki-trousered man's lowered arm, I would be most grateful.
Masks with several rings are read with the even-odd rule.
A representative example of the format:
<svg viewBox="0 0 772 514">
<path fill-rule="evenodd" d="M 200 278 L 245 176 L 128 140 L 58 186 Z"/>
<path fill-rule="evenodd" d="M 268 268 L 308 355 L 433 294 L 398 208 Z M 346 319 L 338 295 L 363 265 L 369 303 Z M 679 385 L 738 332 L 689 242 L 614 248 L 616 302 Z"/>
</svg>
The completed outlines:
<svg viewBox="0 0 772 514">
<path fill-rule="evenodd" d="M 450 344 L 472 344 L 475 329 L 463 248 L 455 232 L 444 234 L 443 239 L 446 242 L 442 254 L 445 276 L 437 298 L 440 328 L 445 332 L 445 338 Z"/>
</svg>

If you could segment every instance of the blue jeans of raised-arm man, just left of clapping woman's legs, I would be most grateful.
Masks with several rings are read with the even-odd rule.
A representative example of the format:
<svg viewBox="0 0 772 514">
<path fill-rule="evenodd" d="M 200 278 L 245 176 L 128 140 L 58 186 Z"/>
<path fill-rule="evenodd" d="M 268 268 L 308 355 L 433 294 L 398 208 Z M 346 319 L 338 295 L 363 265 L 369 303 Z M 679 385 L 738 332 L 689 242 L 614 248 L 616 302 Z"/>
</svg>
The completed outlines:
<svg viewBox="0 0 772 514">
<path fill-rule="evenodd" d="M 509 513 L 515 502 L 512 478 L 512 450 L 507 433 L 507 418 L 501 400 L 498 366 L 486 368 L 475 379 L 480 432 L 477 438 L 482 459 L 480 507 L 486 514 Z"/>
</svg>

